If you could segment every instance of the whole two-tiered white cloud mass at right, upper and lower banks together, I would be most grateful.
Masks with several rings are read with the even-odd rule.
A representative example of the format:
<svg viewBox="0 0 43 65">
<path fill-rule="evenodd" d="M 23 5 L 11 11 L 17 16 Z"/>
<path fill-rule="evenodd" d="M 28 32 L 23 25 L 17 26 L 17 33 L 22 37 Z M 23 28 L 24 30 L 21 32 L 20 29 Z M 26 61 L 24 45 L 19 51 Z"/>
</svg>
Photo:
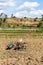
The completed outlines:
<svg viewBox="0 0 43 65">
<path fill-rule="evenodd" d="M 38 2 L 24 2 L 17 9 L 15 13 L 16 17 L 41 17 L 43 10 L 37 9 L 39 7 Z"/>
</svg>

